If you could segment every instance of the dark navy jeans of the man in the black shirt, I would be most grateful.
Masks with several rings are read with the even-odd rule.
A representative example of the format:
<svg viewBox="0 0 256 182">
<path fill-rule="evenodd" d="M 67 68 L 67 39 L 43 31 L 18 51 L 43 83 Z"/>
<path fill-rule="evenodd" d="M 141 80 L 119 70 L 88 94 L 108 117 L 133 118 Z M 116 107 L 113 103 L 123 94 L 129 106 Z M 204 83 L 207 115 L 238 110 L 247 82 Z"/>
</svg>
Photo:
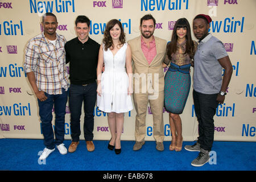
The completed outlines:
<svg viewBox="0 0 256 182">
<path fill-rule="evenodd" d="M 97 98 L 97 84 L 82 86 L 71 84 L 69 87 L 69 109 L 71 111 L 71 137 L 73 142 L 78 142 L 81 134 L 80 117 L 82 102 L 84 101 L 84 138 L 93 140 L 94 107 Z"/>
</svg>

